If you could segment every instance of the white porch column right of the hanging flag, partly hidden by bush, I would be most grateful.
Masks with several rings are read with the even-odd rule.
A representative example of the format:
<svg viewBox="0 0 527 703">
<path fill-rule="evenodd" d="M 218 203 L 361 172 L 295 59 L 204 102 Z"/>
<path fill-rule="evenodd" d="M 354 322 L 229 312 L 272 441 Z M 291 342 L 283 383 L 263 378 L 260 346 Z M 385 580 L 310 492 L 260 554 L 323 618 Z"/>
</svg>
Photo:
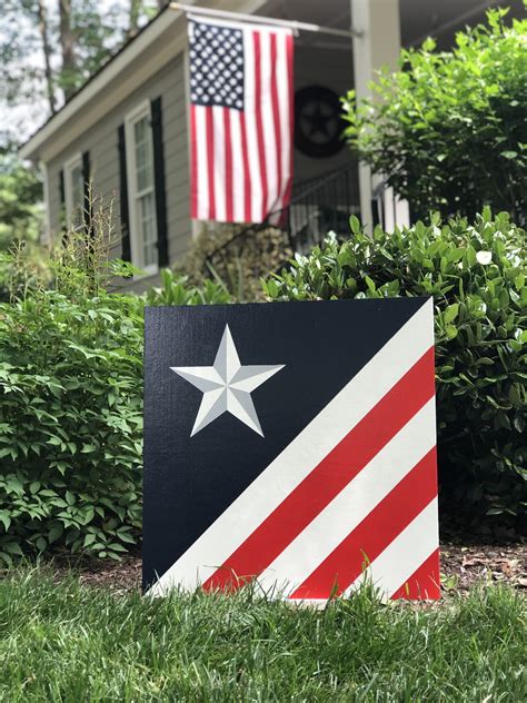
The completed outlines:
<svg viewBox="0 0 527 703">
<path fill-rule="evenodd" d="M 399 0 L 350 0 L 351 26 L 361 32 L 354 38 L 354 73 L 357 101 L 371 95 L 368 83 L 375 71 L 396 70 L 400 51 Z M 359 165 L 360 219 L 371 230 L 371 170 Z"/>
</svg>

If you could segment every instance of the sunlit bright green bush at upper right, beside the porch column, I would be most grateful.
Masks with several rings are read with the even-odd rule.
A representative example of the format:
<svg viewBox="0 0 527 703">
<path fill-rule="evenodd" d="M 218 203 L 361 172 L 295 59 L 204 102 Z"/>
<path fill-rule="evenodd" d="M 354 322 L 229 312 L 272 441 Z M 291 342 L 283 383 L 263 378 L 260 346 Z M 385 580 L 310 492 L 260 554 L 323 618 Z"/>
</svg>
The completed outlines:
<svg viewBox="0 0 527 703">
<path fill-rule="evenodd" d="M 344 102 L 351 148 L 416 217 L 473 217 L 484 205 L 526 217 L 527 20 L 506 27 L 506 12 L 459 32 L 453 51 L 431 39 L 404 50 L 401 70 L 371 85 L 372 100 L 357 109 L 351 90 Z"/>
</svg>

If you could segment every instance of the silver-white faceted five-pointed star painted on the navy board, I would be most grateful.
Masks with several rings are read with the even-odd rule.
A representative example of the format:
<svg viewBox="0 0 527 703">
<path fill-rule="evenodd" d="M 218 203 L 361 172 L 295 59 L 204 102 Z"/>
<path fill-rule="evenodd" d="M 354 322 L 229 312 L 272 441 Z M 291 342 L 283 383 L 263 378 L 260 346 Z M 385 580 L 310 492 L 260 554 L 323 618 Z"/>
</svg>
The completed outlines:
<svg viewBox="0 0 527 703">
<path fill-rule="evenodd" d="M 250 394 L 284 366 L 241 366 L 229 325 L 226 325 L 212 366 L 170 367 L 203 394 L 190 436 L 223 413 L 230 413 L 264 437 Z"/>
</svg>

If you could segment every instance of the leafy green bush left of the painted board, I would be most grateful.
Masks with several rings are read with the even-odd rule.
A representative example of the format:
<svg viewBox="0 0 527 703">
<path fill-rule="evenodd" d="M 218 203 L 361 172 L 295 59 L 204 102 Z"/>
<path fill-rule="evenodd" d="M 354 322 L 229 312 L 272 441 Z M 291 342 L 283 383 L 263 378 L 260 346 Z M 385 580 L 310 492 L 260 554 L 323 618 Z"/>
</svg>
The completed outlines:
<svg viewBox="0 0 527 703">
<path fill-rule="evenodd" d="M 57 289 L 0 305 L 0 563 L 57 547 L 118 557 L 136 543 L 145 304 L 228 301 L 170 271 L 148 296 L 110 295 L 98 247 L 70 236 Z"/>
</svg>

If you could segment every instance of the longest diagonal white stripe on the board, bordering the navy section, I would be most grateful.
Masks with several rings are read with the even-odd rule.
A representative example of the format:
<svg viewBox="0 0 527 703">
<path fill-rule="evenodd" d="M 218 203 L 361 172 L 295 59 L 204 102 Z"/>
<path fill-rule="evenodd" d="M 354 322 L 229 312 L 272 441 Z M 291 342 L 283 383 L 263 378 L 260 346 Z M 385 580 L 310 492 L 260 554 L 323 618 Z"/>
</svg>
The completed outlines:
<svg viewBox="0 0 527 703">
<path fill-rule="evenodd" d="M 161 594 L 173 585 L 195 588 L 209 578 L 432 346 L 432 329 L 430 299 L 172 564 L 150 592 Z"/>
</svg>

